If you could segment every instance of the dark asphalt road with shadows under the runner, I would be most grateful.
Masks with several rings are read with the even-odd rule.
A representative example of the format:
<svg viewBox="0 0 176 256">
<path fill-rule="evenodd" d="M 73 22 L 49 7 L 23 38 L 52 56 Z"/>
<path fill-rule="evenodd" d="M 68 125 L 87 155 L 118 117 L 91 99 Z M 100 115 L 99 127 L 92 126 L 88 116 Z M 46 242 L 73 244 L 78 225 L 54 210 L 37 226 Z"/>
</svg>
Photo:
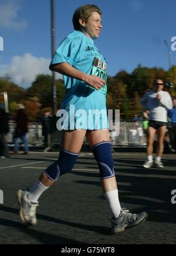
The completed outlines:
<svg viewBox="0 0 176 256">
<path fill-rule="evenodd" d="M 175 244 L 176 156 L 164 155 L 164 169 L 144 169 L 144 153 L 115 153 L 121 206 L 147 211 L 148 220 L 111 235 L 110 212 L 103 198 L 93 155 L 80 154 L 75 169 L 60 178 L 40 198 L 38 225 L 25 227 L 19 219 L 18 189 L 30 188 L 57 159 L 56 153 L 31 152 L 0 159 L 0 244 Z M 175 200 L 176 201 L 176 200 Z"/>
</svg>

